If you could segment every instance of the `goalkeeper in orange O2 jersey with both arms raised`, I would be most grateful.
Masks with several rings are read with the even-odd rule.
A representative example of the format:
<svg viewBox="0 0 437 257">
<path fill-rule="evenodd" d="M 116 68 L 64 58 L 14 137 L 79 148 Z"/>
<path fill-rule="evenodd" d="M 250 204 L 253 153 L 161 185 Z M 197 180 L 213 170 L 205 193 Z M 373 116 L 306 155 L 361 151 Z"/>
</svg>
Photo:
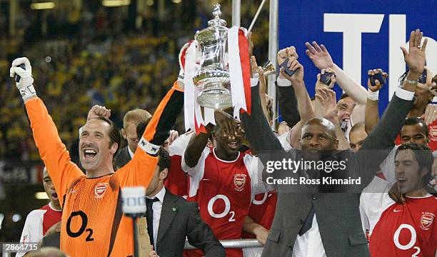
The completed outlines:
<svg viewBox="0 0 437 257">
<path fill-rule="evenodd" d="M 112 161 L 120 145 L 119 129 L 104 116 L 87 121 L 79 138 L 84 174 L 70 161 L 54 121 L 36 96 L 29 60 L 15 59 L 10 74 L 20 76 L 16 86 L 26 106 L 34 141 L 59 194 L 63 208 L 61 251 L 69 256 L 132 256 L 133 222 L 121 212 L 120 188 L 149 185 L 159 168 L 159 148 L 184 104 L 182 90 L 174 84 L 144 131 L 134 158 L 116 173 Z"/>
</svg>

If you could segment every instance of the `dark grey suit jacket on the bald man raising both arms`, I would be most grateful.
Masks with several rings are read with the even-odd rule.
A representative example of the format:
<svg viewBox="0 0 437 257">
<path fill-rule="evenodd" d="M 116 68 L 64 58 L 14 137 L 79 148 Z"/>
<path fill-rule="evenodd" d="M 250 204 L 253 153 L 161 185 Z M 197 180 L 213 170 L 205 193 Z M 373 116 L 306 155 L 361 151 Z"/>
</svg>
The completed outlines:
<svg viewBox="0 0 437 257">
<path fill-rule="evenodd" d="M 301 151 L 296 149 L 288 153 L 283 151 L 281 143 L 272 133 L 263 116 L 258 95 L 258 86 L 255 86 L 252 88 L 251 116 L 247 114 L 241 116 L 246 138 L 251 146 L 260 153 L 261 160 L 262 150 L 273 152 L 273 154 L 270 153 L 269 158 L 281 156 L 281 158 L 296 159 L 297 156 L 300 156 Z M 349 158 L 351 164 L 343 177 L 361 177 L 361 187 L 367 186 L 381 161 L 393 148 L 393 142 L 401 131 L 403 121 L 412 104 L 413 101 L 393 96 L 380 123 L 366 138 L 360 151 L 356 155 L 351 153 L 349 149 L 337 153 L 343 159 Z M 387 151 L 366 151 L 372 149 L 386 149 Z M 336 174 L 337 172 L 333 171 L 332 173 Z M 281 170 L 272 174 L 296 176 L 297 173 Z M 294 187 L 299 190 L 298 192 L 290 192 L 290 188 L 293 186 L 276 186 L 278 191 L 276 214 L 268 233 L 263 256 L 292 256 L 296 236 L 301 230 L 311 206 L 314 206 L 316 212 L 318 229 L 326 256 L 369 256 L 358 208 L 359 193 L 326 193 L 305 185 Z M 359 188 L 354 189 L 359 190 Z"/>
</svg>

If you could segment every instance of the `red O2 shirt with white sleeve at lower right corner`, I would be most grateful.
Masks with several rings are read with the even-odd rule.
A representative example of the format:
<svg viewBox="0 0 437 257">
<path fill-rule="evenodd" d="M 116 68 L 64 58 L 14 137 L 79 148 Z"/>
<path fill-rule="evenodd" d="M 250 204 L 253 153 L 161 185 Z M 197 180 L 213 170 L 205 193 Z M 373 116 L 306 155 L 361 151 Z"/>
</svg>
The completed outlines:
<svg viewBox="0 0 437 257">
<path fill-rule="evenodd" d="M 374 189 L 373 192 L 388 192 L 391 183 L 375 177 L 369 186 Z M 388 193 L 364 193 L 361 201 L 361 211 L 368 218 L 363 223 L 368 223 L 372 257 L 436 255 L 435 196 L 407 196 L 406 202 L 400 204 L 393 201 Z"/>
</svg>

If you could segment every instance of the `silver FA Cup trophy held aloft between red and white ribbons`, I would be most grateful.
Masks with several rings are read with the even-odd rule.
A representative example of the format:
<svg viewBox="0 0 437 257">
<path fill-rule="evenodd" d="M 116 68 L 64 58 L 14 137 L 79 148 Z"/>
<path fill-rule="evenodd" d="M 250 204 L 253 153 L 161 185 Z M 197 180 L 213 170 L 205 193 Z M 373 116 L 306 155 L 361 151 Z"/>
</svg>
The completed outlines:
<svg viewBox="0 0 437 257">
<path fill-rule="evenodd" d="M 216 4 L 213 15 L 208 28 L 194 36 L 201 48 L 201 68 L 194 74 L 193 82 L 200 90 L 197 98 L 200 106 L 226 109 L 232 106 L 229 71 L 225 63 L 228 28 L 226 21 L 220 18 L 220 4 Z"/>
</svg>

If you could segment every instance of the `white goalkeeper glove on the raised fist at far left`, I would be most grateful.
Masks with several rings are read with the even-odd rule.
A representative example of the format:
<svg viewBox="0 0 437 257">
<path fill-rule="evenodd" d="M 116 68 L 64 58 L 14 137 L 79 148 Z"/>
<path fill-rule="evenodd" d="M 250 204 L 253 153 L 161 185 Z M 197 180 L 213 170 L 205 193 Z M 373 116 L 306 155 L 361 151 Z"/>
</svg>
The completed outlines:
<svg viewBox="0 0 437 257">
<path fill-rule="evenodd" d="M 24 64 L 24 69 L 19 67 L 21 64 Z M 21 57 L 12 61 L 9 74 L 11 77 L 15 77 L 16 75 L 21 77 L 19 82 L 16 82 L 15 84 L 17 89 L 19 89 L 24 102 L 29 98 L 36 96 L 36 91 L 33 85 L 34 78 L 32 77 L 32 66 L 30 65 L 29 59 Z"/>
</svg>

